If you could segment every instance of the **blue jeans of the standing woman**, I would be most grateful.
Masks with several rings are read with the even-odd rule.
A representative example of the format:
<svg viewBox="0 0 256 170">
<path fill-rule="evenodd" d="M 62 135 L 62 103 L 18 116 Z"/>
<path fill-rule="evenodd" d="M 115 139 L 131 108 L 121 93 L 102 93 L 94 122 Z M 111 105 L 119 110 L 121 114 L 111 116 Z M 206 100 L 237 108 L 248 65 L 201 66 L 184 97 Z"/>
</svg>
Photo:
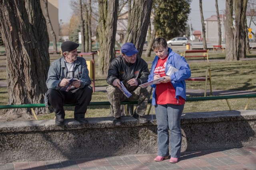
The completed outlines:
<svg viewBox="0 0 256 170">
<path fill-rule="evenodd" d="M 169 155 L 169 133 L 170 129 L 170 151 L 171 157 L 179 158 L 181 149 L 180 119 L 184 105 L 156 104 L 158 155 Z"/>
</svg>

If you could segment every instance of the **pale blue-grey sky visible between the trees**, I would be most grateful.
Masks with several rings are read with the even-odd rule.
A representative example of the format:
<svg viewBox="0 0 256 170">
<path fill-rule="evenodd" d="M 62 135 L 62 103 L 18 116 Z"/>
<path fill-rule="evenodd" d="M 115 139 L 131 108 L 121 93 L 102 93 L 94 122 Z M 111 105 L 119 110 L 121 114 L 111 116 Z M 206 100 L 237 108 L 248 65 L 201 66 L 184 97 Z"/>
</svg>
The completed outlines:
<svg viewBox="0 0 256 170">
<path fill-rule="evenodd" d="M 226 0 L 218 0 L 218 8 L 220 10 L 225 10 L 225 3 Z M 69 6 L 70 0 L 59 0 L 59 21 L 62 20 L 63 23 L 69 22 L 73 12 Z M 201 31 L 202 25 L 199 10 L 199 0 L 192 0 L 190 8 L 191 12 L 188 17 L 188 23 L 190 23 L 189 20 L 191 20 L 192 28 L 194 30 Z M 212 15 L 216 15 L 215 0 L 202 0 L 202 9 L 204 20 L 210 18 Z M 219 13 L 222 14 L 221 11 L 219 11 Z"/>
</svg>

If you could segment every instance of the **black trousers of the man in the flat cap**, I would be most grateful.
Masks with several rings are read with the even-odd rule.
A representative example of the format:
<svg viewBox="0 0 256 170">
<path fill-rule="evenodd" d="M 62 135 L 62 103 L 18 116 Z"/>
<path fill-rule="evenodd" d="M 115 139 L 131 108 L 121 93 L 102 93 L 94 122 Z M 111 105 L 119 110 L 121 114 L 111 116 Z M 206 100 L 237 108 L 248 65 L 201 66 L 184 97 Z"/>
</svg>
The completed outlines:
<svg viewBox="0 0 256 170">
<path fill-rule="evenodd" d="M 48 103 L 53 107 L 56 119 L 64 119 L 64 104 L 76 104 L 74 117 L 84 117 L 87 106 L 92 100 L 92 87 L 85 86 L 68 92 L 48 89 L 46 92 Z"/>
</svg>

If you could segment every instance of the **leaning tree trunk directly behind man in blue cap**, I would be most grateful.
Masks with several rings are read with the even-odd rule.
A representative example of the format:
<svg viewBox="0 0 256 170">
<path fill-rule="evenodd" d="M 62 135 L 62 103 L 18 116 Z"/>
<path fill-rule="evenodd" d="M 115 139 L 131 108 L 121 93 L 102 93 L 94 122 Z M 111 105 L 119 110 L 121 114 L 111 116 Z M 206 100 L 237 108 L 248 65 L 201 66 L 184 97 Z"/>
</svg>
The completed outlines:
<svg viewBox="0 0 256 170">
<path fill-rule="evenodd" d="M 134 43 L 141 57 L 145 43 L 153 0 L 136 0 L 133 3 L 124 43 Z"/>
</svg>

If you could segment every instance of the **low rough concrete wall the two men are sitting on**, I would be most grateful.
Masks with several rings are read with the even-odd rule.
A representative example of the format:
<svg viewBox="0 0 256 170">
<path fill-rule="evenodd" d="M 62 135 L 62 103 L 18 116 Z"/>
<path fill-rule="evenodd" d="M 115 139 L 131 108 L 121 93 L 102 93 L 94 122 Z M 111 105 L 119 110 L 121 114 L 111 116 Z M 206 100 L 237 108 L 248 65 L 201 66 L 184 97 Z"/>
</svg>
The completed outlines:
<svg viewBox="0 0 256 170">
<path fill-rule="evenodd" d="M 87 124 L 66 119 L 63 127 L 54 120 L 1 122 L 0 164 L 155 154 L 156 117 L 145 117 L 148 123 L 140 124 L 124 116 L 119 127 L 112 117 L 88 118 Z M 181 151 L 256 146 L 255 123 L 255 109 L 183 114 Z"/>
</svg>

